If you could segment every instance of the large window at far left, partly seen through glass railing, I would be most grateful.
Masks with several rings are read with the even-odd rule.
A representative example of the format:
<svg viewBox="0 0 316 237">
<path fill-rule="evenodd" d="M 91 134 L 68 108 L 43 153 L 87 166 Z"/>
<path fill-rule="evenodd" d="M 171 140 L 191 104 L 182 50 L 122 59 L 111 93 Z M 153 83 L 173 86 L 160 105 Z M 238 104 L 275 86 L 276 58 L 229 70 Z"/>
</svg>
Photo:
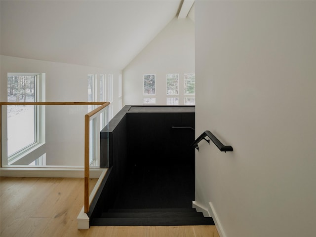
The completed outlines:
<svg viewBox="0 0 316 237">
<path fill-rule="evenodd" d="M 8 102 L 40 102 L 45 74 L 8 73 Z M 44 98 L 43 98 L 44 99 Z M 7 106 L 7 161 L 12 164 L 44 142 L 44 110 L 36 105 Z"/>
</svg>

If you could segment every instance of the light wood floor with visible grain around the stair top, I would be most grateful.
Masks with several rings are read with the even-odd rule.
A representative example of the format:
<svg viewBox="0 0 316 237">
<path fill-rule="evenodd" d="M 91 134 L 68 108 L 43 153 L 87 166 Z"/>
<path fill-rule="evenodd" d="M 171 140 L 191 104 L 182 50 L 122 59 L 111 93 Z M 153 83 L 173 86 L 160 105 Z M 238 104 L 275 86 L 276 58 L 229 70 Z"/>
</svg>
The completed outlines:
<svg viewBox="0 0 316 237">
<path fill-rule="evenodd" d="M 90 180 L 92 190 L 97 179 Z M 77 229 L 83 179 L 0 178 L 1 237 L 219 237 L 215 226 Z"/>
</svg>

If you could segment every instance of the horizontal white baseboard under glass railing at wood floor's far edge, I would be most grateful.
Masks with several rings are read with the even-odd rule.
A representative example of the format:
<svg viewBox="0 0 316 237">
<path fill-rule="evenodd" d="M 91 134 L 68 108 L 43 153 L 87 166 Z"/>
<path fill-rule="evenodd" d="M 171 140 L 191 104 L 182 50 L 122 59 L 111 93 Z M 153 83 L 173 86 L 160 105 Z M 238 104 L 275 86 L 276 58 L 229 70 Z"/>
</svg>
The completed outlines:
<svg viewBox="0 0 316 237">
<path fill-rule="evenodd" d="M 90 169 L 90 178 L 99 178 L 101 168 Z M 1 177 L 83 178 L 83 168 L 0 168 Z"/>
</svg>

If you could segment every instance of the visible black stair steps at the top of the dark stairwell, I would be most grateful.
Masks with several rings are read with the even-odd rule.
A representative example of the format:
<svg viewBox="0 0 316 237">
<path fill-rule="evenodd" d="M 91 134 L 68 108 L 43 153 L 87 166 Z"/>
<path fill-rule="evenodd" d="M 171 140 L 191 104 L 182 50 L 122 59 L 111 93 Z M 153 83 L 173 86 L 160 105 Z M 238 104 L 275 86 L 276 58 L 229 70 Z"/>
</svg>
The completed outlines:
<svg viewBox="0 0 316 237">
<path fill-rule="evenodd" d="M 194 208 L 109 209 L 91 221 L 91 226 L 184 225 L 214 225 L 214 222 Z"/>
</svg>

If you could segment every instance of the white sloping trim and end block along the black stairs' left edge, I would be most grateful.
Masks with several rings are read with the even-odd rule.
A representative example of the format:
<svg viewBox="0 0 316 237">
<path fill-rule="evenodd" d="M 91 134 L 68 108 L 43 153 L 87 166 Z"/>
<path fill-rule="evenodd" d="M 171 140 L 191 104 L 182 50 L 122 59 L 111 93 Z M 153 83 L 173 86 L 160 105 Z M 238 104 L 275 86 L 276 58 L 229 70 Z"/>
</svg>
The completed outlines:
<svg viewBox="0 0 316 237">
<path fill-rule="evenodd" d="M 96 193 L 101 185 L 101 182 L 103 181 L 107 171 L 108 171 L 108 169 L 102 170 L 102 173 L 100 174 L 99 179 L 98 179 L 97 183 L 95 184 L 95 186 L 94 186 L 94 188 L 89 196 L 89 205 L 91 204 L 94 196 L 96 195 Z M 87 230 L 90 228 L 89 217 L 86 213 L 84 213 L 84 206 L 81 208 L 81 210 L 79 212 L 79 215 L 77 217 L 77 222 L 78 222 L 78 230 Z"/>
</svg>

